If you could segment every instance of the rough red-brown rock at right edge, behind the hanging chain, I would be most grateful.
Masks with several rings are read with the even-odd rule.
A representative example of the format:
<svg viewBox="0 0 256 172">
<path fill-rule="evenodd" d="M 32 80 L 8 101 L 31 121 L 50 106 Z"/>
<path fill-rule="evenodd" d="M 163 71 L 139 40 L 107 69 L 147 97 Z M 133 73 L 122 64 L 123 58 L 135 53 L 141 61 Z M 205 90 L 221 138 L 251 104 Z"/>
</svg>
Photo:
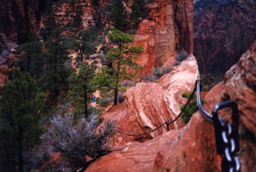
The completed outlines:
<svg viewBox="0 0 256 172">
<path fill-rule="evenodd" d="M 242 123 L 256 135 L 256 41 L 226 72 L 222 98 L 238 103 Z"/>
</svg>

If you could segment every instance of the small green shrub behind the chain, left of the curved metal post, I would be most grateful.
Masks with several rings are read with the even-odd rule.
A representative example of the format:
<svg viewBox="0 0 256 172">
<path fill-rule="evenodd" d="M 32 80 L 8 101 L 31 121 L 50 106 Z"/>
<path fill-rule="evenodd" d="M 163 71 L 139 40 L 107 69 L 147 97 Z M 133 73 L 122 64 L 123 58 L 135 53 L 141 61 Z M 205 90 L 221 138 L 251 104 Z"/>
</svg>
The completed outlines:
<svg viewBox="0 0 256 172">
<path fill-rule="evenodd" d="M 182 98 L 190 98 L 191 93 L 188 94 L 182 94 Z M 202 98 L 200 99 L 202 104 L 205 102 Z M 181 110 L 183 110 L 185 104 L 181 106 Z M 196 95 L 194 94 L 190 103 L 188 106 L 186 106 L 186 109 L 182 113 L 182 122 L 188 123 L 190 122 L 190 118 L 192 115 L 198 110 L 197 101 L 196 101 Z"/>
</svg>

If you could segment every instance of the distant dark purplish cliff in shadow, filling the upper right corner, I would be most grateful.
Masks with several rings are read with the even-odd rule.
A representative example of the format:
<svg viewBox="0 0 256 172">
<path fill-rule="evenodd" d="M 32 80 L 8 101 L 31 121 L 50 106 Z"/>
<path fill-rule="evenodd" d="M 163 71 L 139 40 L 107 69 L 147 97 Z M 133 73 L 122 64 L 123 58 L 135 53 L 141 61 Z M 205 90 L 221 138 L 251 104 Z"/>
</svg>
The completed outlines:
<svg viewBox="0 0 256 172">
<path fill-rule="evenodd" d="M 224 73 L 256 39 L 256 2 L 222 2 L 201 0 L 194 5 L 194 56 L 203 73 Z"/>
</svg>

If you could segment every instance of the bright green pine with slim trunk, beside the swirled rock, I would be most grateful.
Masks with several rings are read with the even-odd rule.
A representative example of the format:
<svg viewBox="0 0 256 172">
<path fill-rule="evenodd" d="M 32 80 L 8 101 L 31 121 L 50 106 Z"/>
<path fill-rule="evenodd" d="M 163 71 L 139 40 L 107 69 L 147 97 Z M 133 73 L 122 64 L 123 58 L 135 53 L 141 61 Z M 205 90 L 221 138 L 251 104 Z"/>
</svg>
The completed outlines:
<svg viewBox="0 0 256 172">
<path fill-rule="evenodd" d="M 114 105 L 117 105 L 119 82 L 133 78 L 134 73 L 141 68 L 134 59 L 138 58 L 136 54 L 143 52 L 143 47 L 130 46 L 129 43 L 134 42 L 134 38 L 120 30 L 113 30 L 108 37 L 113 43 L 113 47 L 106 55 L 111 63 L 110 66 L 102 67 L 95 81 L 99 87 L 107 86 L 114 90 Z"/>
</svg>

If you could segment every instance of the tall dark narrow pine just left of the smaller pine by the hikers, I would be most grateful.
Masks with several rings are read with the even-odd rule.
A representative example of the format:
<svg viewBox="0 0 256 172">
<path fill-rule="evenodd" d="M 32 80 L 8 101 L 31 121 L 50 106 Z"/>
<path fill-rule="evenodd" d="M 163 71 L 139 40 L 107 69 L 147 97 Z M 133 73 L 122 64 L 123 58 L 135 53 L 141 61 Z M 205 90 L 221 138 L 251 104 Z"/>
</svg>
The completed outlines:
<svg viewBox="0 0 256 172">
<path fill-rule="evenodd" d="M 70 60 L 65 40 L 58 28 L 52 31 L 52 36 L 45 42 L 47 51 L 42 53 L 46 65 L 42 76 L 42 90 L 49 92 L 49 98 L 54 99 L 59 90 L 67 90 L 70 76 L 70 66 L 65 62 Z"/>
</svg>

